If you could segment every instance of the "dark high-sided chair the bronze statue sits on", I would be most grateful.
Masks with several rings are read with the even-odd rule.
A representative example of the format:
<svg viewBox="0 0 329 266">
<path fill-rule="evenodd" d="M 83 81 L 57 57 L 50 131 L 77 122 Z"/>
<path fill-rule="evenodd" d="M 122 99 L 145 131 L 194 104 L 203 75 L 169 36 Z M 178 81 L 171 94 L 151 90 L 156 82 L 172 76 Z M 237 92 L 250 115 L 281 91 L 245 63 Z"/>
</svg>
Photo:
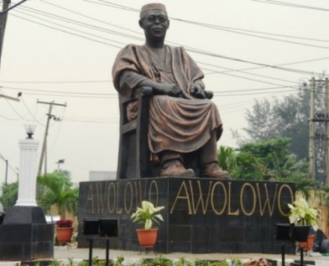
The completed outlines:
<svg viewBox="0 0 329 266">
<path fill-rule="evenodd" d="M 211 99 L 213 93 L 206 91 L 206 98 Z M 160 165 L 150 161 L 148 146 L 149 101 L 153 96 L 152 87 L 142 87 L 136 97 L 125 97 L 119 94 L 120 138 L 117 179 L 138 179 L 159 176 Z M 127 104 L 136 101 L 138 113 L 136 119 L 127 119 Z M 192 167 L 196 173 L 196 156 L 191 153 L 186 156 L 185 164 Z"/>
</svg>

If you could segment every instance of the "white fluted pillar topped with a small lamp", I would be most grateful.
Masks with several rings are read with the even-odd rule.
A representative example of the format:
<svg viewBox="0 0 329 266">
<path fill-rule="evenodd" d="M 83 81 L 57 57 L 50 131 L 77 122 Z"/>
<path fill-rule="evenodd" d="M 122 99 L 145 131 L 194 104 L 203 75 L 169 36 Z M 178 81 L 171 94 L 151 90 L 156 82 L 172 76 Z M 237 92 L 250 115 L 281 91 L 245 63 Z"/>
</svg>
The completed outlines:
<svg viewBox="0 0 329 266">
<path fill-rule="evenodd" d="M 28 138 L 21 139 L 19 142 L 21 150 L 19 196 L 15 206 L 36 206 L 36 170 L 39 141 L 29 135 L 28 129 L 27 134 Z"/>
</svg>

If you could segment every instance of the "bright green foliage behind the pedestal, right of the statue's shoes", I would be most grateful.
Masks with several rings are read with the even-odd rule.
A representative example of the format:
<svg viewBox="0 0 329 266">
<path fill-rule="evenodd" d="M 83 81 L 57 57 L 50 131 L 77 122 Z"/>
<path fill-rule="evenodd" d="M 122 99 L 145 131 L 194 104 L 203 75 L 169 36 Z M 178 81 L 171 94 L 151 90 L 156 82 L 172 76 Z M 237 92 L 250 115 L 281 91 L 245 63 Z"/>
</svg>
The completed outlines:
<svg viewBox="0 0 329 266">
<path fill-rule="evenodd" d="M 245 143 L 239 149 L 220 147 L 218 161 L 235 179 L 288 180 L 307 178 L 307 162 L 289 152 L 288 138 Z"/>
</svg>

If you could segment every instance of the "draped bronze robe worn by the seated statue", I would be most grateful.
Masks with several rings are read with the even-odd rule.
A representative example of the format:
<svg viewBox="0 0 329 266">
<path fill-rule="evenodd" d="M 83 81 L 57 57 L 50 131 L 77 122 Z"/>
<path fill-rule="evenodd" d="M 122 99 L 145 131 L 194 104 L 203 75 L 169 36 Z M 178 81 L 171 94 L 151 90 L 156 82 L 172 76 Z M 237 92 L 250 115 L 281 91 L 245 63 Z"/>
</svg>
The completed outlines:
<svg viewBox="0 0 329 266">
<path fill-rule="evenodd" d="M 220 138 L 221 117 L 213 102 L 190 94 L 193 83 L 203 85 L 204 75 L 185 49 L 167 45 L 165 49 L 165 62 L 160 62 L 157 51 L 146 45 L 124 47 L 113 66 L 114 86 L 121 95 L 131 97 L 144 79 L 177 84 L 180 97 L 155 95 L 150 100 L 149 148 L 153 154 L 193 152 L 204 146 L 214 131 Z M 136 102 L 127 107 L 128 119 L 134 119 L 136 110 Z"/>
</svg>

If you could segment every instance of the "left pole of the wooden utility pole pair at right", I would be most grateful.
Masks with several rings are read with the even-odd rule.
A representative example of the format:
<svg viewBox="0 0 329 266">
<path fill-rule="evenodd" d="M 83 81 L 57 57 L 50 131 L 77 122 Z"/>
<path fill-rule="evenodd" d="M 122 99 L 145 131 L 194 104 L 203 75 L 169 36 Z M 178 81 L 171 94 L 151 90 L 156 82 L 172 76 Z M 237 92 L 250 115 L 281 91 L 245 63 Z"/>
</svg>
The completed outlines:
<svg viewBox="0 0 329 266">
<path fill-rule="evenodd" d="M 310 178 L 315 179 L 315 78 L 311 80 L 312 90 L 310 91 L 310 109 L 309 109 L 309 141 L 308 141 L 308 173 Z"/>
</svg>

